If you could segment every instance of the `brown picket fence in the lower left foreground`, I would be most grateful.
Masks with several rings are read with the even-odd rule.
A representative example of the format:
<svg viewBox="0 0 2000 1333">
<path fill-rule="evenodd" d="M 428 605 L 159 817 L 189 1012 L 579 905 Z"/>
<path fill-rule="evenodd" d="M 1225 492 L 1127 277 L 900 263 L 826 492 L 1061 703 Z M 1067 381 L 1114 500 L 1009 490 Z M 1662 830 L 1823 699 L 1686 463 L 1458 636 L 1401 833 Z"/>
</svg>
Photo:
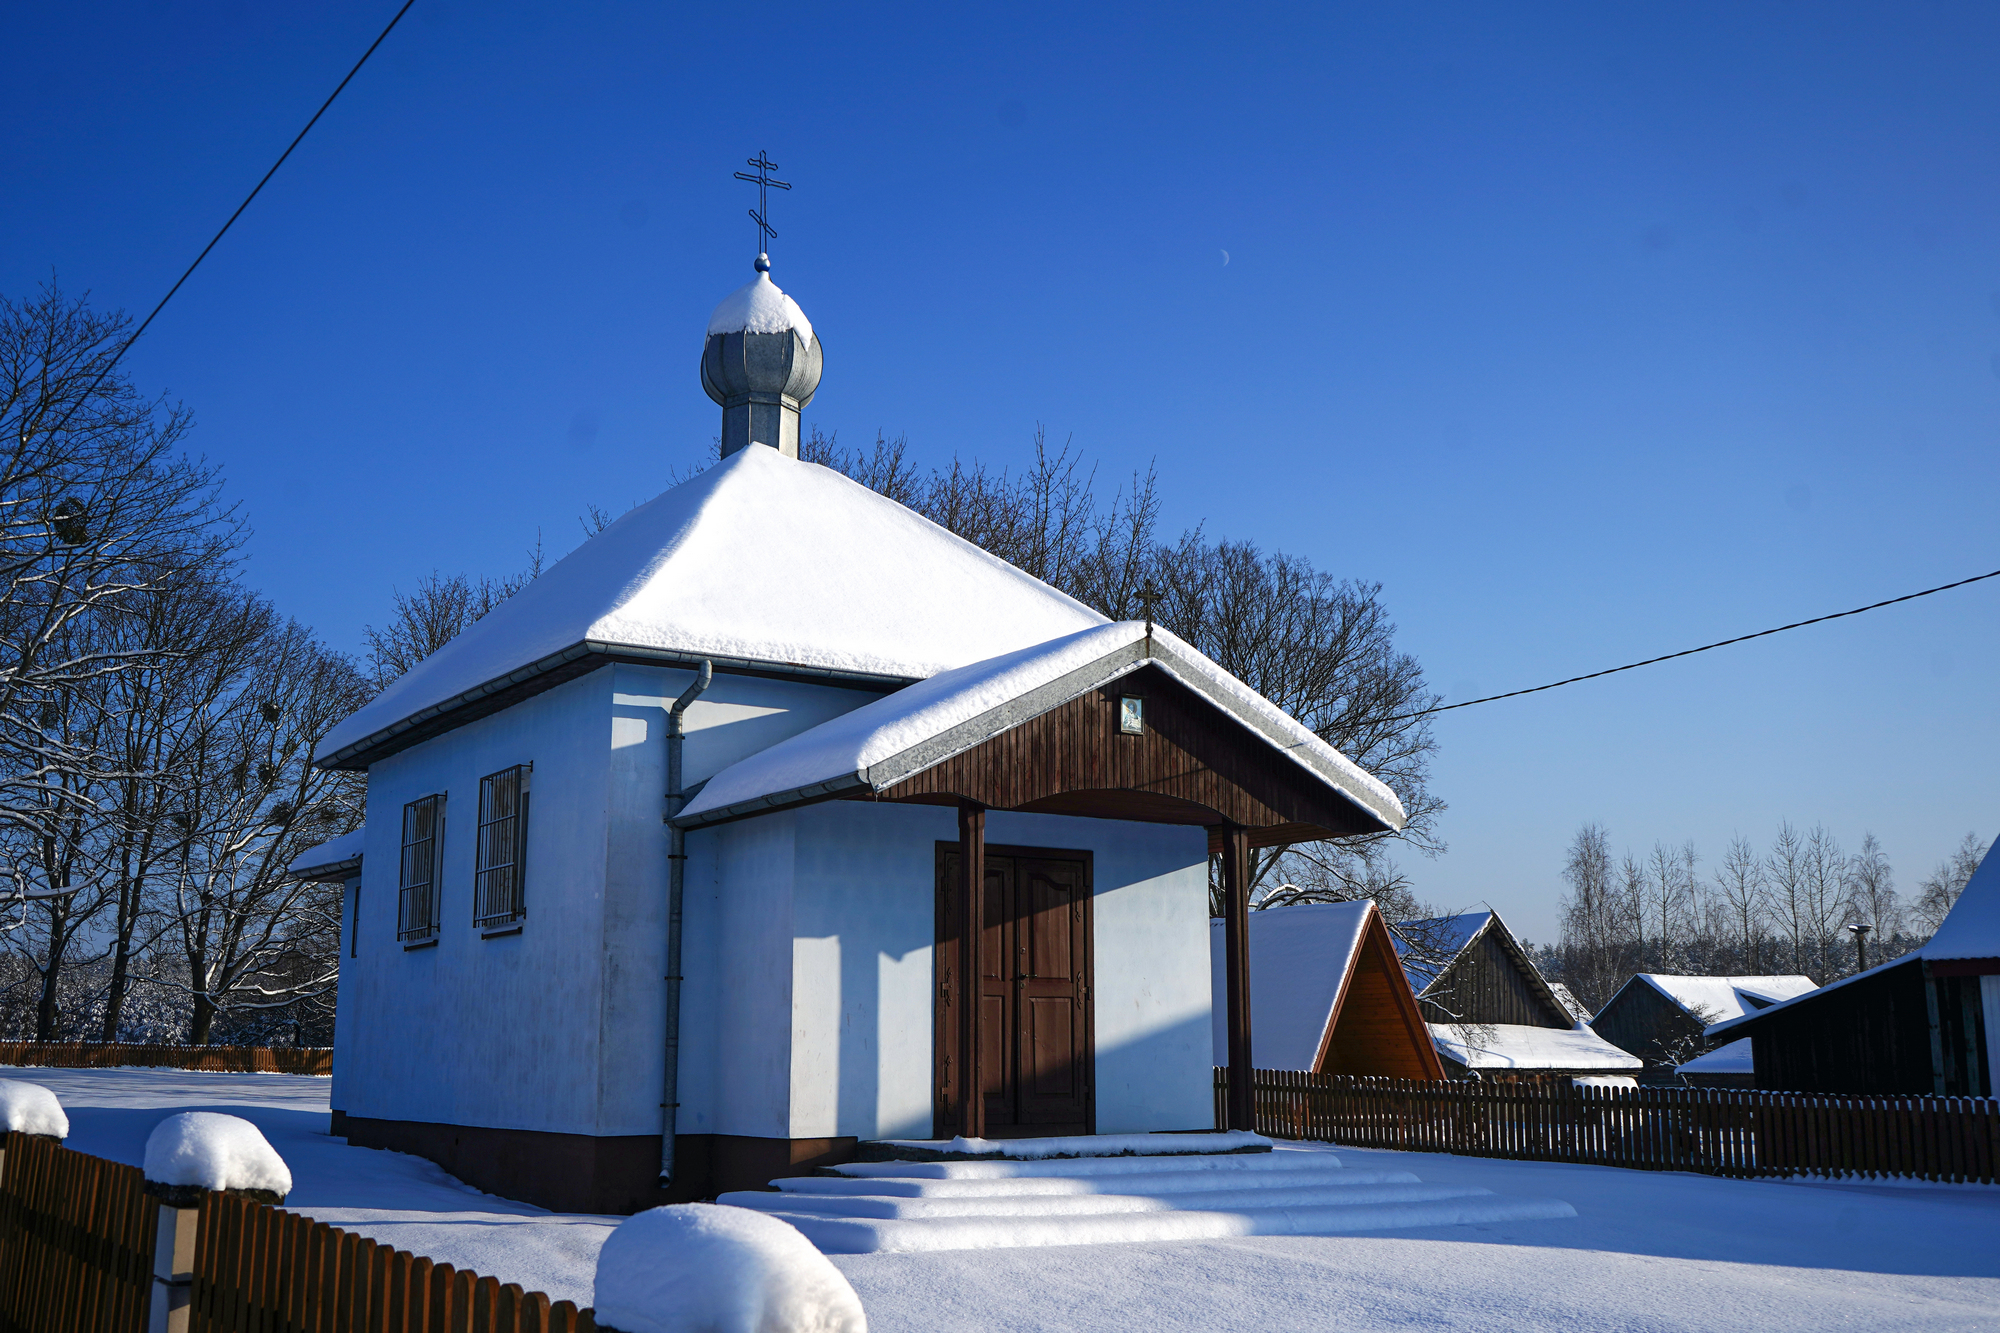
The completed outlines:
<svg viewBox="0 0 2000 1333">
<path fill-rule="evenodd" d="M 142 1333 L 160 1201 L 138 1167 L 6 1135 L 0 1333 Z M 234 1195 L 202 1195 L 190 1333 L 594 1333 L 588 1309 Z"/>
</svg>

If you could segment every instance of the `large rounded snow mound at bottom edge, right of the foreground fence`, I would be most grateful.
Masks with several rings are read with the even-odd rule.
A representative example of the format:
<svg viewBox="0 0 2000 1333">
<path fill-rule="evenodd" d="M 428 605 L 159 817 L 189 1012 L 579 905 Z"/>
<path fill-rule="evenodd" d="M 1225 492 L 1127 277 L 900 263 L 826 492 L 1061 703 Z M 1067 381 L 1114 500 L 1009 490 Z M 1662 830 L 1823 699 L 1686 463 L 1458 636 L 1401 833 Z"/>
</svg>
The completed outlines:
<svg viewBox="0 0 2000 1333">
<path fill-rule="evenodd" d="M 714 1203 L 626 1219 L 598 1251 L 594 1305 L 618 1333 L 868 1333 L 854 1287 L 798 1229 Z"/>
</svg>

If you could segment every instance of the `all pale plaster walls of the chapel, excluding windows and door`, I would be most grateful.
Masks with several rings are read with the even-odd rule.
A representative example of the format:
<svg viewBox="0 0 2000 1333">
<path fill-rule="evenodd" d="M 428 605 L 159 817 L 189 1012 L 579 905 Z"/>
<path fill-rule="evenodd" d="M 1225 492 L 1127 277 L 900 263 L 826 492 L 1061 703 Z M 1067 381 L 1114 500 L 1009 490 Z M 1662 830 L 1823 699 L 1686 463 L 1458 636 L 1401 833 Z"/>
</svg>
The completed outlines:
<svg viewBox="0 0 2000 1333">
<path fill-rule="evenodd" d="M 658 1133 L 666 1045 L 664 705 L 692 673 L 610 666 L 370 769 L 334 1105 L 358 1117 Z M 718 675 L 688 781 L 872 695 Z M 526 929 L 472 927 L 478 781 L 534 763 Z M 448 793 L 442 937 L 396 941 L 402 805 Z M 830 801 L 688 837 L 680 1131 L 928 1137 L 946 807 Z M 1094 857 L 1100 1133 L 1212 1119 L 1200 829 L 988 817 Z"/>
</svg>

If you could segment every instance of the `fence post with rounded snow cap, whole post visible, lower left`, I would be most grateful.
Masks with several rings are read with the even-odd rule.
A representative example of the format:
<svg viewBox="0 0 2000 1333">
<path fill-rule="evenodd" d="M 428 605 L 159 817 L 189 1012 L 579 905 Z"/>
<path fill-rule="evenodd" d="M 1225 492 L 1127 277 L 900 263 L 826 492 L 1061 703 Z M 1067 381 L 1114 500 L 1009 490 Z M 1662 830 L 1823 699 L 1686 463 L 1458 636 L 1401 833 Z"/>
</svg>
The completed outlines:
<svg viewBox="0 0 2000 1333">
<path fill-rule="evenodd" d="M 284 1203 L 292 1169 L 256 1125 L 234 1115 L 182 1111 L 146 1137 L 146 1193 L 160 1201 L 152 1247 L 148 1333 L 186 1333 L 194 1301 L 194 1233 L 208 1191 Z"/>
</svg>

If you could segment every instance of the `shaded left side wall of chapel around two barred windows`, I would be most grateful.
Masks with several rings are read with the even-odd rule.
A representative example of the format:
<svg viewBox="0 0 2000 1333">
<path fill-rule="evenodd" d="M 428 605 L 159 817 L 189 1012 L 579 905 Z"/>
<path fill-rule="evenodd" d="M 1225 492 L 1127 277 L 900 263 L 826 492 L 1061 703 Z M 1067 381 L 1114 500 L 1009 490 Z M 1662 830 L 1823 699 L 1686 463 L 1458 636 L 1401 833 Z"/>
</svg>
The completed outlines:
<svg viewBox="0 0 2000 1333">
<path fill-rule="evenodd" d="M 468 723 L 368 771 L 358 957 L 342 959 L 334 1107 L 360 1117 L 586 1131 L 596 1123 L 610 673 Z M 534 763 L 528 917 L 472 925 L 480 779 Z M 438 945 L 396 941 L 402 807 L 446 793 Z"/>
</svg>

